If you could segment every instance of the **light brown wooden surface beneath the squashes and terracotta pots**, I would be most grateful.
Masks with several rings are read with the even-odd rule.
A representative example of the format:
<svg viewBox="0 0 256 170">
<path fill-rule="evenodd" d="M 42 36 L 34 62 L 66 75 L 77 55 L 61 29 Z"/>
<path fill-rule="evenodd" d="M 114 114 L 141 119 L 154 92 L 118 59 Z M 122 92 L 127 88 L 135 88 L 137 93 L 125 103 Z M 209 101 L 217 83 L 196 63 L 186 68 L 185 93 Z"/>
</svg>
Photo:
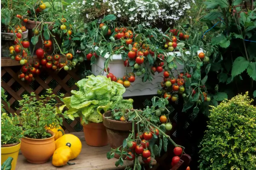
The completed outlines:
<svg viewBox="0 0 256 170">
<path fill-rule="evenodd" d="M 25 157 L 20 153 L 16 170 L 122 170 L 125 169 L 126 161 L 124 161 L 124 165 L 121 167 L 115 166 L 115 162 L 117 159 L 107 159 L 107 152 L 111 150 L 111 147 L 91 147 L 85 143 L 84 133 L 83 132 L 75 132 L 74 135 L 78 136 L 82 142 L 82 150 L 80 155 L 70 161 L 71 163 L 75 162 L 75 165 L 65 165 L 63 167 L 54 167 L 52 165 L 52 160 L 48 161 L 44 164 L 31 164 L 26 161 Z M 128 165 L 132 165 L 133 161 L 129 161 Z M 156 161 L 153 160 L 152 164 L 156 164 Z"/>
</svg>

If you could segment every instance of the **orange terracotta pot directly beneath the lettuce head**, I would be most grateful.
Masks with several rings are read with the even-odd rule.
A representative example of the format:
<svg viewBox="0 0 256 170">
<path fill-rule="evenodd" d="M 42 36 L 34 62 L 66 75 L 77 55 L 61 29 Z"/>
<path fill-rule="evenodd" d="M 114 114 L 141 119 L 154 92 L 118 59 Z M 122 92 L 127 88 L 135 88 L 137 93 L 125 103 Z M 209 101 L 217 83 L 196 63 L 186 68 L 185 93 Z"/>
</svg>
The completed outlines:
<svg viewBox="0 0 256 170">
<path fill-rule="evenodd" d="M 82 122 L 82 121 L 81 121 Z M 108 136 L 106 128 L 102 122 L 83 124 L 84 138 L 86 144 L 90 146 L 108 145 Z"/>
</svg>

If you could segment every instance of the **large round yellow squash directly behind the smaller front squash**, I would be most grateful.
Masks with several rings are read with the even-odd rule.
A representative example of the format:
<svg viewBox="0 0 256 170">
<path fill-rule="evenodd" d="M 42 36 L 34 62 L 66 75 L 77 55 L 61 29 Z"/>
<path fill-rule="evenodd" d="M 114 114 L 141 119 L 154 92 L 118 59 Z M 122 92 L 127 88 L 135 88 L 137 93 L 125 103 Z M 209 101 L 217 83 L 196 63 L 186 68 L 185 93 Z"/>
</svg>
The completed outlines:
<svg viewBox="0 0 256 170">
<path fill-rule="evenodd" d="M 61 131 L 63 136 L 55 141 L 56 149 L 63 146 L 69 146 L 72 151 L 70 160 L 75 159 L 77 156 L 79 156 L 82 149 L 82 143 L 80 139 L 72 134 L 64 134 L 63 130 L 58 131 Z"/>
</svg>

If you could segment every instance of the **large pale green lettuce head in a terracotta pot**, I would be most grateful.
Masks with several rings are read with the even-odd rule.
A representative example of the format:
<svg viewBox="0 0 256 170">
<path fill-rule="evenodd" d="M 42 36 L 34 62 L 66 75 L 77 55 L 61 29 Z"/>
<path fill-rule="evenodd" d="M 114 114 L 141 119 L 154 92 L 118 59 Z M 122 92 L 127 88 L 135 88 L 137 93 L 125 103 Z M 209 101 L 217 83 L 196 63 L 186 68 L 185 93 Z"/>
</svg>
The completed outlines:
<svg viewBox="0 0 256 170">
<path fill-rule="evenodd" d="M 87 79 L 81 79 L 76 85 L 79 91 L 71 91 L 73 95 L 64 98 L 68 117 L 72 120 L 81 117 L 85 123 L 99 123 L 102 122 L 101 111 L 133 108 L 132 99 L 122 99 L 124 86 L 107 77 L 91 75 Z"/>
</svg>

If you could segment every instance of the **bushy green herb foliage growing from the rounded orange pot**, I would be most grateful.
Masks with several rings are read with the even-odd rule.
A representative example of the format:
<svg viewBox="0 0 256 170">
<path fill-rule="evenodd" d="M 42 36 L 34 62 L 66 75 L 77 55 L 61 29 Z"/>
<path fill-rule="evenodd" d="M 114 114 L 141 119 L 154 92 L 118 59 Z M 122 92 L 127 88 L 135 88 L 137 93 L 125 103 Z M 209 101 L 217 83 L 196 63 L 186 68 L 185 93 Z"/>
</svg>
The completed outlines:
<svg viewBox="0 0 256 170">
<path fill-rule="evenodd" d="M 47 89 L 47 94 L 35 97 L 32 92 L 30 96 L 24 95 L 19 101 L 21 106 L 20 122 L 24 129 L 24 136 L 32 139 L 45 139 L 51 136 L 47 133 L 45 127 L 54 128 L 62 125 L 60 105 L 56 99 L 61 99 L 64 94 L 57 96 L 52 94 L 52 89 Z"/>
</svg>

